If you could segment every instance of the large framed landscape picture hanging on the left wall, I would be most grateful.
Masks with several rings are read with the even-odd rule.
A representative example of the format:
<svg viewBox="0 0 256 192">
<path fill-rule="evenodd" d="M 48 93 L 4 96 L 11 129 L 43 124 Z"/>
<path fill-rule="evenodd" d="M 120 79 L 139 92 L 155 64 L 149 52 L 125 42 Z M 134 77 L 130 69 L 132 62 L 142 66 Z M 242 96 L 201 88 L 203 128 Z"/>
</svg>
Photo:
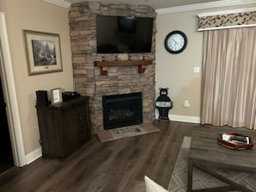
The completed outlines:
<svg viewBox="0 0 256 192">
<path fill-rule="evenodd" d="M 23 30 L 28 74 L 62 71 L 59 34 Z"/>
</svg>

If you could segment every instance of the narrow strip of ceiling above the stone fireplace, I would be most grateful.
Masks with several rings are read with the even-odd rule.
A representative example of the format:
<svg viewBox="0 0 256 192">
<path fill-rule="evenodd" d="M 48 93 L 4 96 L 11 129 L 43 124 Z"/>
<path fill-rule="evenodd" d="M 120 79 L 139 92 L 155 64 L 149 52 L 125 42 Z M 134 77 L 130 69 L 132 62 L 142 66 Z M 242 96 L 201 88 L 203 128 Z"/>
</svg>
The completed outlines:
<svg viewBox="0 0 256 192">
<path fill-rule="evenodd" d="M 69 3 L 79 3 L 79 2 L 95 2 L 96 0 L 65 0 Z M 171 8 L 178 7 L 190 4 L 197 3 L 209 3 L 209 2 L 223 2 L 223 0 L 101 0 L 100 2 L 107 3 L 129 3 L 129 4 L 145 4 L 153 9 L 163 9 L 163 8 Z M 226 0 L 229 1 L 229 0 Z"/>
</svg>

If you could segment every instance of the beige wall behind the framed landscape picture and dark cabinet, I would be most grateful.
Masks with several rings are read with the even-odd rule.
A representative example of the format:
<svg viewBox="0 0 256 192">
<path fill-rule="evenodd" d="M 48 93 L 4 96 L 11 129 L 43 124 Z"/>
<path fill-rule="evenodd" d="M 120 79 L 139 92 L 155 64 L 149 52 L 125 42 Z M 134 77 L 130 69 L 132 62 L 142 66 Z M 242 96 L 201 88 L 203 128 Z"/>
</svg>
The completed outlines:
<svg viewBox="0 0 256 192">
<path fill-rule="evenodd" d="M 42 0 L 0 0 L 0 11 L 6 17 L 22 136 L 25 153 L 28 154 L 40 147 L 38 121 L 34 108 L 35 91 L 58 87 L 63 90 L 73 90 L 68 9 Z M 62 72 L 28 76 L 23 29 L 60 35 Z"/>
</svg>

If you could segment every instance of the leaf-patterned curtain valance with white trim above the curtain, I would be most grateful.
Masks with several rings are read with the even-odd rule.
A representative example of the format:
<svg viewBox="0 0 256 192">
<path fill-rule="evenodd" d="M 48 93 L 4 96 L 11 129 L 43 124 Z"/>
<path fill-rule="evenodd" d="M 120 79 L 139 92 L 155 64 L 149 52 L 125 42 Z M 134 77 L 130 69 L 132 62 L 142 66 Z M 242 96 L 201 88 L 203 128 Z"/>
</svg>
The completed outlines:
<svg viewBox="0 0 256 192">
<path fill-rule="evenodd" d="M 256 8 L 198 14 L 198 31 L 256 26 Z"/>
</svg>

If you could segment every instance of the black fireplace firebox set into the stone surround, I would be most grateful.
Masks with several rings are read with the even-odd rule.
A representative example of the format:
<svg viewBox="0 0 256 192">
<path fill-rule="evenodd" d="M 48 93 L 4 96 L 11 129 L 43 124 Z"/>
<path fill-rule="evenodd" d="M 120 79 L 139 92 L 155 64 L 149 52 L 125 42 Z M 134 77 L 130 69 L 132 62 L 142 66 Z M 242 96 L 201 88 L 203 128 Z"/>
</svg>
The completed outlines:
<svg viewBox="0 0 256 192">
<path fill-rule="evenodd" d="M 103 128 L 142 123 L 142 93 L 103 96 Z"/>
</svg>

